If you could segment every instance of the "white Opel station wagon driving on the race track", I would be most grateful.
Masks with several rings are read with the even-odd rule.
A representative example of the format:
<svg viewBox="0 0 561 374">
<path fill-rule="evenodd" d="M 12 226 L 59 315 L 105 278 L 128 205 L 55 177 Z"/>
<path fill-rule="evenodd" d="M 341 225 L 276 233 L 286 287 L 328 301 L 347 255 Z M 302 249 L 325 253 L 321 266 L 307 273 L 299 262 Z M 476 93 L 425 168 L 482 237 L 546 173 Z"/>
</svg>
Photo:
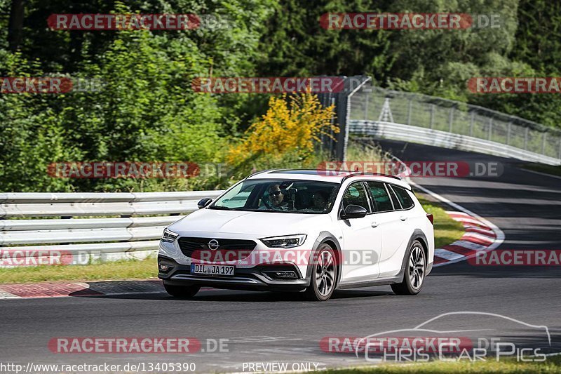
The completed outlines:
<svg viewBox="0 0 561 374">
<path fill-rule="evenodd" d="M 387 284 L 416 295 L 433 267 L 433 216 L 391 175 L 262 171 L 198 208 L 160 241 L 158 277 L 175 297 L 210 286 L 323 301 Z"/>
</svg>

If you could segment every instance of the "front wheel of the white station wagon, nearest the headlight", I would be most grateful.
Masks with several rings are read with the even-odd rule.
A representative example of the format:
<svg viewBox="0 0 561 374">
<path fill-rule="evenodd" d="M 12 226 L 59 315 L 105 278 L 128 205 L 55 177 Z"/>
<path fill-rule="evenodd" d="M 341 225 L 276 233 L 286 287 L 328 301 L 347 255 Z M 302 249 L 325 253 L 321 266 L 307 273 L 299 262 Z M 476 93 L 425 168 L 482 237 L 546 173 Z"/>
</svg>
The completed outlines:
<svg viewBox="0 0 561 374">
<path fill-rule="evenodd" d="M 337 286 L 337 258 L 333 248 L 323 243 L 313 257 L 310 286 L 304 293 L 308 300 L 326 301 L 331 298 L 335 286 Z"/>
</svg>

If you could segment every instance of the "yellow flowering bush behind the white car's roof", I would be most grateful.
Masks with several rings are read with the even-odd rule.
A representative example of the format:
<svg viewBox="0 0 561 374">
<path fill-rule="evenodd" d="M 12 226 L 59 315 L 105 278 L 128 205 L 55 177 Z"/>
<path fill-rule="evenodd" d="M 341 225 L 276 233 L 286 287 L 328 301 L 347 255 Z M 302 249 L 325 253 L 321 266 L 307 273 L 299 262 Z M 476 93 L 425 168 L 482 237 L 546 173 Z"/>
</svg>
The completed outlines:
<svg viewBox="0 0 561 374">
<path fill-rule="evenodd" d="M 333 138 L 339 127 L 332 123 L 334 105 L 323 107 L 316 95 L 303 93 L 271 97 L 269 109 L 253 123 L 245 137 L 227 152 L 226 160 L 233 166 L 247 161 L 257 163 L 266 156 L 266 166 L 282 165 L 285 159 L 306 161 L 314 155 L 321 136 Z"/>
</svg>

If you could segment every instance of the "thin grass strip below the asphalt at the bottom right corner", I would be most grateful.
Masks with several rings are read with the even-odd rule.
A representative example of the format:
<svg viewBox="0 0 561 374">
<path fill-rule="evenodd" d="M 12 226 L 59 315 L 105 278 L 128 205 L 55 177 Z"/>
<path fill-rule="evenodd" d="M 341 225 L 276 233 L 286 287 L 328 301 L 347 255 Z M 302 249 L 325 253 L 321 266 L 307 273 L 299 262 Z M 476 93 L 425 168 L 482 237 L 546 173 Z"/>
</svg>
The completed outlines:
<svg viewBox="0 0 561 374">
<path fill-rule="evenodd" d="M 459 362 L 431 361 L 427 363 L 403 364 L 384 364 L 364 368 L 350 368 L 341 370 L 327 370 L 325 373 L 344 374 L 344 373 L 561 373 L 561 357 L 550 356 L 543 362 L 517 362 L 513 359 L 503 361 L 469 362 L 462 360 Z"/>
</svg>

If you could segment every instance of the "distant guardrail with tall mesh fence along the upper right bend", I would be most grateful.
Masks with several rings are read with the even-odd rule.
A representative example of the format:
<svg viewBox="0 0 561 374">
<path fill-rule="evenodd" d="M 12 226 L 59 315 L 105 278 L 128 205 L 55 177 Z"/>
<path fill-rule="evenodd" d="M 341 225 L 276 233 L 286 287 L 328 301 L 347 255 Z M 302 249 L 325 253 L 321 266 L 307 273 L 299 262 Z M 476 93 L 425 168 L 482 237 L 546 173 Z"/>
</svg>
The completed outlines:
<svg viewBox="0 0 561 374">
<path fill-rule="evenodd" d="M 349 132 L 561 165 L 561 131 L 490 109 L 366 86 L 351 97 Z"/>
</svg>

